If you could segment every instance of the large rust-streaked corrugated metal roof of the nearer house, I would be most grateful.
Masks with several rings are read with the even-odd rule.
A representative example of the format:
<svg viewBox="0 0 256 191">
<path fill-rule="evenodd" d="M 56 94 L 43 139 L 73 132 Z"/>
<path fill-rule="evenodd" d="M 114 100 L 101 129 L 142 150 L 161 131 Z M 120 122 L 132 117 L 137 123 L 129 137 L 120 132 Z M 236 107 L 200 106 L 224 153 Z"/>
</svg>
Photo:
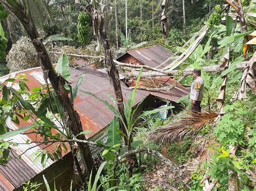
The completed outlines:
<svg viewBox="0 0 256 191">
<path fill-rule="evenodd" d="M 81 60 L 79 60 L 78 62 L 79 65 L 84 65 L 84 62 L 82 62 Z M 107 96 L 107 93 L 109 93 L 114 97 L 114 90 L 110 83 L 109 76 L 106 73 L 100 72 L 99 70 L 91 66 L 81 67 L 78 69 L 71 68 L 71 86 L 76 85 L 76 82 L 82 73 L 85 73 L 85 77 L 81 86 L 79 87 L 79 90 L 89 91 L 92 94 L 95 94 L 96 96 L 102 98 L 103 100 L 112 103 L 111 99 Z M 26 82 L 26 84 L 30 89 L 32 89 L 33 87 L 40 87 L 42 83 L 45 83 L 42 78 L 43 73 L 41 71 L 41 67 L 23 70 L 22 72 L 12 73 L 7 76 L 15 77 L 19 74 L 26 74 L 26 78 L 29 80 L 28 82 Z M 166 80 L 166 78 L 163 79 Z M 6 80 L 6 76 L 0 78 L 0 81 L 4 80 Z M 171 79 L 168 79 L 166 80 L 165 84 L 167 83 L 173 83 L 173 81 Z M 17 82 L 5 82 L 5 85 L 17 87 Z M 127 101 L 132 90 L 126 87 L 124 83 L 122 83 L 122 91 L 124 100 Z M 188 90 L 181 85 L 178 85 L 176 88 L 174 88 L 167 94 L 145 90 L 137 90 L 136 101 L 134 105 L 136 105 L 138 102 L 143 100 L 143 98 L 149 96 L 150 94 L 166 98 L 167 100 L 176 101 L 178 100 L 178 98 L 184 96 L 184 94 L 187 93 Z M 80 116 L 80 120 L 83 125 L 83 130 L 92 130 L 92 133 L 86 134 L 87 138 L 90 138 L 97 132 L 103 130 L 107 125 L 109 125 L 110 121 L 114 117 L 113 112 L 109 110 L 109 108 L 107 108 L 104 103 L 98 101 L 95 97 L 87 95 L 81 91 L 78 91 L 78 95 L 74 102 L 74 107 Z M 12 123 L 11 129 L 17 129 L 21 126 L 30 125 L 31 123 L 31 121 L 24 122 L 21 120 L 20 125 Z M 52 133 L 56 133 L 56 131 L 52 130 Z M 32 141 L 41 140 L 41 137 L 37 136 L 35 133 L 31 133 L 28 135 L 18 135 L 16 137 L 12 137 L 12 139 L 15 139 L 16 142 L 24 143 L 28 139 Z M 33 145 L 29 146 L 31 147 Z M 15 150 L 17 152 L 16 154 L 22 153 L 29 146 L 21 145 L 15 147 Z M 6 177 L 6 179 L 8 179 L 8 181 L 12 183 L 12 185 L 14 185 L 15 187 L 21 186 L 23 182 L 28 181 L 37 173 L 43 171 L 44 168 L 41 166 L 40 161 L 38 161 L 35 165 L 32 164 L 33 158 L 30 157 L 30 154 L 44 147 L 45 145 L 37 146 L 33 148 L 33 150 L 24 154 L 21 160 L 10 161 L 6 167 L 0 167 L 1 172 Z M 47 150 L 55 151 L 55 145 L 49 146 Z M 53 164 L 53 161 L 49 160 L 46 164 L 46 167 L 50 166 L 51 164 Z M 2 180 L 0 180 L 0 184 L 1 182 Z"/>
</svg>

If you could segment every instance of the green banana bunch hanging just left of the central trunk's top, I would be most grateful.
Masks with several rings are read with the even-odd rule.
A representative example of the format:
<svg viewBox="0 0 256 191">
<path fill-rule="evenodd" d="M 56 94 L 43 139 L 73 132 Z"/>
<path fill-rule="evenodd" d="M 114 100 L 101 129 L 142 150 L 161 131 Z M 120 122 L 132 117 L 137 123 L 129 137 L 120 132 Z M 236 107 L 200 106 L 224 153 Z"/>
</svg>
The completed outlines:
<svg viewBox="0 0 256 191">
<path fill-rule="evenodd" d="M 91 16 L 87 12 L 80 12 L 78 16 L 78 40 L 81 43 L 88 44 L 90 42 L 89 40 L 89 32 L 91 30 Z"/>
</svg>

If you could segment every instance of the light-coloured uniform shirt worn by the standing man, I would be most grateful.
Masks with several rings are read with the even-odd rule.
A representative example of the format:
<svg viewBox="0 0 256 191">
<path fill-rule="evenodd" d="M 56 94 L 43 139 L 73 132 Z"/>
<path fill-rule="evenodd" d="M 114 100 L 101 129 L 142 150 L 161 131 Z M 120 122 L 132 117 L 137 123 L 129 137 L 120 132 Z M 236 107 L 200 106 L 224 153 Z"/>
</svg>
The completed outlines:
<svg viewBox="0 0 256 191">
<path fill-rule="evenodd" d="M 201 76 L 198 76 L 193 80 L 191 90 L 190 90 L 190 98 L 194 101 L 201 101 L 203 99 L 204 92 L 204 79 Z"/>
</svg>

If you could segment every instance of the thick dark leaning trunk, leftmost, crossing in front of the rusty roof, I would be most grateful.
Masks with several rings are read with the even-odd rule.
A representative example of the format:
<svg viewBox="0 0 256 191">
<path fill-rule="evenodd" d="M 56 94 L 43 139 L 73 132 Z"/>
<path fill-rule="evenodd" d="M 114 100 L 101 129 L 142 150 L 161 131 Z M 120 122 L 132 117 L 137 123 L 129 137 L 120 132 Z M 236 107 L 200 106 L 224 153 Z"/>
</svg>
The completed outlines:
<svg viewBox="0 0 256 191">
<path fill-rule="evenodd" d="M 0 0 L 0 2 L 5 4 L 4 0 Z M 38 58 L 41 63 L 45 81 L 49 79 L 56 95 L 58 96 L 60 103 L 62 104 L 64 114 L 66 115 L 66 125 L 68 126 L 73 135 L 77 135 L 78 133 L 83 131 L 82 123 L 80 122 L 79 115 L 75 111 L 73 103 L 69 98 L 69 93 L 64 87 L 66 81 L 63 79 L 62 76 L 56 73 L 55 69 L 52 66 L 48 52 L 45 49 L 42 39 L 39 37 L 35 23 L 33 22 L 33 19 L 31 17 L 28 4 L 19 4 L 17 3 L 17 1 L 14 0 L 7 0 L 7 2 L 8 4 L 5 5 L 8 6 L 9 10 L 11 10 L 14 15 L 18 17 L 18 19 L 24 26 L 24 29 L 28 33 L 30 39 L 32 40 L 33 46 L 36 49 Z M 83 135 L 78 136 L 78 139 L 86 140 L 85 136 Z M 81 143 L 77 143 L 77 145 L 79 147 L 79 152 L 85 166 L 86 175 L 87 177 L 89 177 L 90 173 L 92 172 L 92 179 L 94 180 L 97 171 L 89 145 Z"/>
</svg>

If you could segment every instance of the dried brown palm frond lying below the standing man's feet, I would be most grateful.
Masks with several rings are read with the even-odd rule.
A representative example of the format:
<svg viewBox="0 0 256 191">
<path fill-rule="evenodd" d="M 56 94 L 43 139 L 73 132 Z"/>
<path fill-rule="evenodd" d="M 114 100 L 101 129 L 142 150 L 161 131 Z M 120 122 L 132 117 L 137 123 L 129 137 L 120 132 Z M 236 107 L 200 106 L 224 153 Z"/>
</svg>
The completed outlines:
<svg viewBox="0 0 256 191">
<path fill-rule="evenodd" d="M 181 119 L 178 121 L 171 122 L 154 130 L 150 135 L 150 139 L 160 144 L 170 143 L 190 133 L 197 133 L 207 123 L 214 122 L 217 116 L 218 114 L 213 111 L 189 111 L 188 114 L 181 116 Z"/>
</svg>

